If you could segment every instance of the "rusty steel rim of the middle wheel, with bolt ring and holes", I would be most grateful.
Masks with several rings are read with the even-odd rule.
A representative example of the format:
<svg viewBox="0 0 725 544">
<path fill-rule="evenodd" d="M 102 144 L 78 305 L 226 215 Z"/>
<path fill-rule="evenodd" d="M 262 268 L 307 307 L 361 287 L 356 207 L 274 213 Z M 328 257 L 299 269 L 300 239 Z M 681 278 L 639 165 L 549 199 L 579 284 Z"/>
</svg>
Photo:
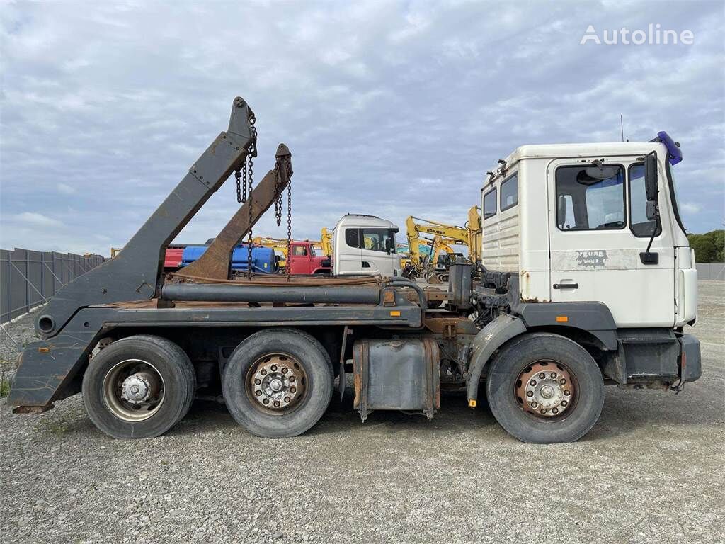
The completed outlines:
<svg viewBox="0 0 725 544">
<path fill-rule="evenodd" d="M 307 395 L 305 367 L 287 353 L 268 353 L 257 358 L 244 382 L 254 408 L 273 416 L 297 410 Z"/>
</svg>

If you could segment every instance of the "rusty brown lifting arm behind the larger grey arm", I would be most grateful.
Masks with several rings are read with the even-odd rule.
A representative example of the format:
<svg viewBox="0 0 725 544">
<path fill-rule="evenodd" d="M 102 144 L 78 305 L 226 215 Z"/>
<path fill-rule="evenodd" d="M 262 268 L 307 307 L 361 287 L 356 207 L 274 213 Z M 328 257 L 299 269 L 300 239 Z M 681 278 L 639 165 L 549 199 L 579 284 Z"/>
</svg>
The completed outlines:
<svg viewBox="0 0 725 544">
<path fill-rule="evenodd" d="M 178 278 L 204 278 L 204 279 L 228 279 L 231 261 L 231 252 L 249 229 L 264 215 L 274 202 L 278 191 L 282 191 L 289 183 L 292 175 L 291 153 L 285 144 L 279 144 L 276 163 L 278 168 L 273 168 L 262 178 L 259 184 L 252 190 L 252 195 L 244 202 L 239 210 L 232 216 L 226 226 L 221 230 L 214 242 L 207 247 L 204 254 L 194 263 L 185 266 L 174 273 Z M 289 167 L 289 168 L 287 168 Z M 278 170 L 278 171 L 277 171 Z M 278 178 L 279 176 L 279 186 Z M 252 221 L 249 222 L 249 206 L 252 206 Z"/>
</svg>

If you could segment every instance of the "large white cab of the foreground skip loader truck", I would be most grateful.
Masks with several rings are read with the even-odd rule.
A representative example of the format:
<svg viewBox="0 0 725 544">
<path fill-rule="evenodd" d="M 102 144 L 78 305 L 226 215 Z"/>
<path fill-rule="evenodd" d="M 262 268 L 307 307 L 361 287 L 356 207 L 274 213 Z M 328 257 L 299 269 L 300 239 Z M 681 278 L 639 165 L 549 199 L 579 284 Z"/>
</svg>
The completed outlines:
<svg viewBox="0 0 725 544">
<path fill-rule="evenodd" d="M 618 328 L 694 324 L 695 256 L 671 168 L 680 160 L 663 132 L 519 147 L 481 191 L 483 265 L 517 273 L 523 302 L 602 302 Z"/>
</svg>

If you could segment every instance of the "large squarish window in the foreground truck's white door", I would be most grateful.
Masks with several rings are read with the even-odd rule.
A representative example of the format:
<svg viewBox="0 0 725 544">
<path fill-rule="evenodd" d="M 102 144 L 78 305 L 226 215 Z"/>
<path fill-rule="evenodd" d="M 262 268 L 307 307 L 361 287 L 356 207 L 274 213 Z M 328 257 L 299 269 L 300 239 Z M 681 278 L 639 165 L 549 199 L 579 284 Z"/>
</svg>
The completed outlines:
<svg viewBox="0 0 725 544">
<path fill-rule="evenodd" d="M 561 166 L 556 170 L 556 200 L 556 223 L 563 231 L 624 228 L 624 168 Z"/>
</svg>

